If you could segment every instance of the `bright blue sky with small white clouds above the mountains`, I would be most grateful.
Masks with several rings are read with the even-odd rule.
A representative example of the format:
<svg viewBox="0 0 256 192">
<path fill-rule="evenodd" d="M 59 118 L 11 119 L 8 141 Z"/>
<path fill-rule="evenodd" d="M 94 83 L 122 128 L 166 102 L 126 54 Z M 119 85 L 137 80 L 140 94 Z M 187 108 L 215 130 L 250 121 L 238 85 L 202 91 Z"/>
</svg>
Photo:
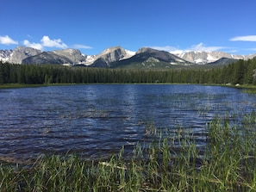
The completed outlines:
<svg viewBox="0 0 256 192">
<path fill-rule="evenodd" d="M 256 53 L 255 0 L 1 0 L 0 49 Z"/>
</svg>

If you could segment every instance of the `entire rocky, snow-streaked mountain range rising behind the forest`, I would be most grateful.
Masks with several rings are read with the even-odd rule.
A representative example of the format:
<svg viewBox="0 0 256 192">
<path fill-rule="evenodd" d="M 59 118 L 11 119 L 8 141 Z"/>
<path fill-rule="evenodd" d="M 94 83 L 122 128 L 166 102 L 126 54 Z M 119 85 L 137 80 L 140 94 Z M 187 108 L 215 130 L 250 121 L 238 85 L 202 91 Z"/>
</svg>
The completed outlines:
<svg viewBox="0 0 256 192">
<path fill-rule="evenodd" d="M 169 53 L 149 47 L 137 52 L 114 46 L 97 55 L 85 55 L 77 49 L 41 52 L 31 47 L 17 46 L 13 50 L 0 50 L 0 60 L 15 64 L 59 64 L 91 67 L 169 68 L 173 65 L 228 64 L 237 59 L 253 59 L 255 54 L 234 55 L 224 52 Z"/>
</svg>

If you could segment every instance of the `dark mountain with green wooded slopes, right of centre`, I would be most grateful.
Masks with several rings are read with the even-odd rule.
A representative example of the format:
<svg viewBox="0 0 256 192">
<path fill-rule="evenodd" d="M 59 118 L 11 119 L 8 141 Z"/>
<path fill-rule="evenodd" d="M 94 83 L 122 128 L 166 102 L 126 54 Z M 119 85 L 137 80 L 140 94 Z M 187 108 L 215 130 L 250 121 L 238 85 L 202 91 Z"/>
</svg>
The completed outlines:
<svg viewBox="0 0 256 192">
<path fill-rule="evenodd" d="M 112 67 L 134 65 L 135 68 L 167 68 L 172 65 L 191 65 L 190 62 L 165 51 L 143 47 L 129 59 L 116 62 Z"/>
</svg>

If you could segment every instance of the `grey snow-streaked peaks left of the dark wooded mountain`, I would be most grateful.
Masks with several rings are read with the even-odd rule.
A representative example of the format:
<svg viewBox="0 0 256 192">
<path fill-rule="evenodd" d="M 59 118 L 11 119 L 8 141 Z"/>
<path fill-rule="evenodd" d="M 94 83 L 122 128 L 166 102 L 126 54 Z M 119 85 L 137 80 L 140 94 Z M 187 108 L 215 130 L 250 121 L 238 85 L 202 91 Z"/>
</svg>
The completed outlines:
<svg viewBox="0 0 256 192">
<path fill-rule="evenodd" d="M 114 46 L 105 49 L 98 55 L 87 56 L 76 49 L 41 52 L 40 50 L 18 46 L 14 50 L 0 50 L 0 60 L 16 64 L 61 64 L 91 65 L 108 67 L 109 63 L 128 59 L 134 52 Z"/>
</svg>

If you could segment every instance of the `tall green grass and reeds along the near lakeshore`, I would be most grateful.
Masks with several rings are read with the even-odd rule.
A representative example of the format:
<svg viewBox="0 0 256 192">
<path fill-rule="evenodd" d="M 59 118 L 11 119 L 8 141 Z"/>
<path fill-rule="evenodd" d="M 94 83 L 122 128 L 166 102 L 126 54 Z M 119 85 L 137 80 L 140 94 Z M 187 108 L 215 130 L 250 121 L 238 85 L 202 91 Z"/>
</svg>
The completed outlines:
<svg viewBox="0 0 256 192">
<path fill-rule="evenodd" d="M 1 164 L 0 191 L 255 191 L 256 114 L 240 125 L 216 118 L 205 126 L 206 146 L 197 134 L 148 126 L 152 143 L 125 147 L 107 160 L 76 155 L 38 158 L 34 164 Z"/>
</svg>

